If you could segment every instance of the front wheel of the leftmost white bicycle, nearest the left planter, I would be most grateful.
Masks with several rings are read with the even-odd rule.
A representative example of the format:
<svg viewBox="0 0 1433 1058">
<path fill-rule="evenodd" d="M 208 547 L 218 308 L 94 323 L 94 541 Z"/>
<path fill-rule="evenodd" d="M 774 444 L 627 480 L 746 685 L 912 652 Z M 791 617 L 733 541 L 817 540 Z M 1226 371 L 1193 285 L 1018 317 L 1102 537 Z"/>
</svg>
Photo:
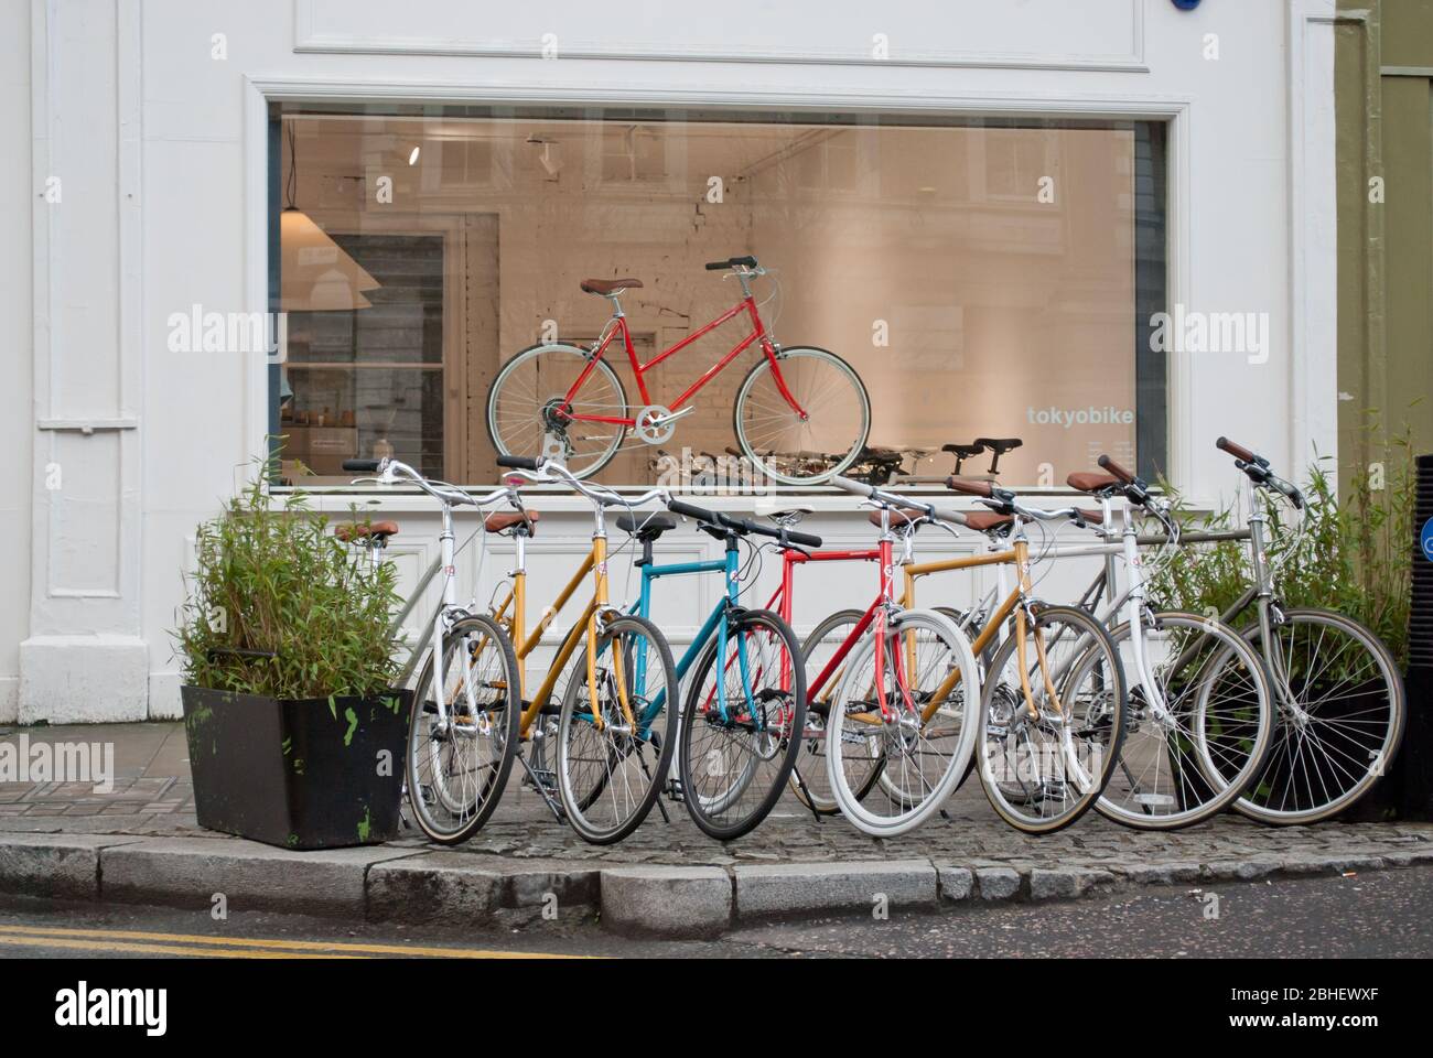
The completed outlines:
<svg viewBox="0 0 1433 1058">
<path fill-rule="evenodd" d="M 493 814 L 513 770 L 517 658 L 497 622 L 477 615 L 457 621 L 443 639 L 441 690 L 433 669 L 430 654 L 408 720 L 408 804 L 424 834 L 459 844 Z"/>
</svg>

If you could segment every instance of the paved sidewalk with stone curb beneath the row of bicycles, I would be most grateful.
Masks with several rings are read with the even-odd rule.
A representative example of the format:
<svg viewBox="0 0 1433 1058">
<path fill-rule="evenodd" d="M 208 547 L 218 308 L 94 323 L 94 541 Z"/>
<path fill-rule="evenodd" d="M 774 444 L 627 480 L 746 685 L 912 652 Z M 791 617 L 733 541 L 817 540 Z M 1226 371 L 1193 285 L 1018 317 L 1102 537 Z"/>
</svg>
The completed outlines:
<svg viewBox="0 0 1433 1058">
<path fill-rule="evenodd" d="M 406 831 L 365 849 L 294 853 L 201 830 L 183 725 L 23 731 L 32 743 L 113 743 L 115 788 L 0 783 L 0 893 L 52 899 L 308 910 L 370 919 L 533 922 L 600 913 L 619 930 L 714 935 L 738 919 L 861 912 L 950 900 L 1068 899 L 1132 885 L 1198 885 L 1433 863 L 1430 823 L 1265 829 L 1227 816 L 1176 833 L 1138 833 L 1091 813 L 1033 839 L 1005 826 L 967 783 L 913 834 L 876 840 L 794 800 L 728 844 L 663 801 L 626 842 L 589 846 L 516 780 L 466 846 Z M 0 728 L 16 741 L 21 730 Z M 514 770 L 516 771 L 516 770 Z"/>
</svg>

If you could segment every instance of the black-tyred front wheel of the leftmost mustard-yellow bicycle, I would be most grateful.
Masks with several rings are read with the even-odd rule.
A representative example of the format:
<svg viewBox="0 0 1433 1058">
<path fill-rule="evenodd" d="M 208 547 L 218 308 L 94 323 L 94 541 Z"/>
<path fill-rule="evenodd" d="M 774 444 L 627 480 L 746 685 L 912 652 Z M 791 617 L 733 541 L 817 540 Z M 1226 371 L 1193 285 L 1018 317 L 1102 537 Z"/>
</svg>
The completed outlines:
<svg viewBox="0 0 1433 1058">
<path fill-rule="evenodd" d="M 583 718 L 583 715 L 590 717 L 592 710 L 586 702 L 588 655 L 585 645 L 580 644 L 572 659 L 572 674 L 563 694 L 562 713 L 557 715 L 557 793 L 572 829 L 592 844 L 620 842 L 642 826 L 642 820 L 646 819 L 666 786 L 666 774 L 672 764 L 672 747 L 676 741 L 681 684 L 676 678 L 676 662 L 672 661 L 672 648 L 668 645 L 666 637 L 658 631 L 656 625 L 643 618 L 632 615 L 612 618 L 602 629 L 602 638 L 598 642 L 599 659 L 613 655 L 612 641 L 618 637 L 633 637 L 633 641 L 641 638 L 648 644 L 643 649 L 648 680 L 642 688 L 628 687 L 628 700 L 641 701 L 643 714 L 652 713 L 642 725 L 641 734 L 618 731 L 622 724 L 613 724 L 609 720 L 620 710 L 609 697 L 613 687 L 605 671 L 598 675 L 603 727 L 599 730 L 595 723 Z M 631 641 L 623 639 L 622 642 L 625 644 L 622 657 L 628 665 L 625 678 L 631 680 L 636 648 Z M 656 669 L 655 677 L 653 668 Z M 582 710 L 586 710 L 586 714 L 582 714 Z M 582 756 L 580 750 L 573 750 L 573 740 L 577 738 L 593 741 L 595 747 L 590 756 Z M 582 768 L 583 764 L 593 761 L 600 761 L 599 771 L 589 773 Z M 612 781 L 612 773 L 619 767 L 632 768 L 629 778 L 639 778 L 643 783 L 641 794 L 635 799 L 631 797 L 632 781 Z M 598 776 L 600 776 L 600 784 Z M 599 816 L 596 809 L 615 801 L 615 796 L 593 796 L 595 790 L 599 794 L 608 790 L 620 790 L 625 803 L 613 804 L 610 819 Z"/>
</svg>

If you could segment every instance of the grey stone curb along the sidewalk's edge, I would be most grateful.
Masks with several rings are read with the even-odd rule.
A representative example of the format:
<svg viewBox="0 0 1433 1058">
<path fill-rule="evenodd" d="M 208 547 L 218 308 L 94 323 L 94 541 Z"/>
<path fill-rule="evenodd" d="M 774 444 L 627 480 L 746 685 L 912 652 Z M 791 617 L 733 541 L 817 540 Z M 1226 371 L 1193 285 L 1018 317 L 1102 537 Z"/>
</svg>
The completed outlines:
<svg viewBox="0 0 1433 1058">
<path fill-rule="evenodd" d="M 853 860 L 600 866 L 428 846 L 289 852 L 234 837 L 0 833 L 0 896 L 287 910 L 373 922 L 510 925 L 600 915 L 603 928 L 711 938 L 780 916 L 870 915 L 997 900 L 1072 900 L 1145 886 L 1343 874 L 1433 864 L 1429 847 L 1122 864 Z"/>
</svg>

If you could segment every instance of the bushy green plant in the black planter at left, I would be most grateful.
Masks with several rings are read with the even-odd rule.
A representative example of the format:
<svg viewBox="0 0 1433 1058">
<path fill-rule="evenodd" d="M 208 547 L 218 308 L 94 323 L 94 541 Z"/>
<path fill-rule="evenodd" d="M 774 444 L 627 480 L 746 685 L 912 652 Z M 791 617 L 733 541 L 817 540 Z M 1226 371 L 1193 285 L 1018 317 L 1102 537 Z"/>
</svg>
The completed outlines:
<svg viewBox="0 0 1433 1058">
<path fill-rule="evenodd" d="M 388 635 L 393 566 L 370 569 L 328 532 L 327 518 L 308 512 L 302 493 L 275 505 L 269 479 L 255 475 L 198 529 L 198 569 L 185 578 L 173 632 L 185 681 L 275 698 L 390 688 L 398 671 Z"/>
</svg>

